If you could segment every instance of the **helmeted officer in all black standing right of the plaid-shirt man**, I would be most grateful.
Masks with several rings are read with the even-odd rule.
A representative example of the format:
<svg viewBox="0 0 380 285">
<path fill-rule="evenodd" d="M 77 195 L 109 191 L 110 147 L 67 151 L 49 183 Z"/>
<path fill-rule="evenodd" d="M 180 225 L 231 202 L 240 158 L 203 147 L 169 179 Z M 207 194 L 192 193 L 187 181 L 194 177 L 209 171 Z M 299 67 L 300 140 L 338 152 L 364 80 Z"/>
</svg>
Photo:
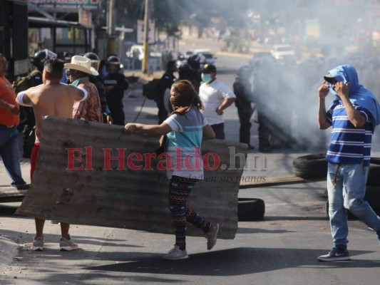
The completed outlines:
<svg viewBox="0 0 380 285">
<path fill-rule="evenodd" d="M 124 91 L 128 89 L 128 81 L 121 73 L 108 73 L 103 80 L 104 87 L 113 86 L 109 91 L 106 90 L 108 108 L 114 125 L 124 125 L 125 115 L 123 110 Z"/>
</svg>

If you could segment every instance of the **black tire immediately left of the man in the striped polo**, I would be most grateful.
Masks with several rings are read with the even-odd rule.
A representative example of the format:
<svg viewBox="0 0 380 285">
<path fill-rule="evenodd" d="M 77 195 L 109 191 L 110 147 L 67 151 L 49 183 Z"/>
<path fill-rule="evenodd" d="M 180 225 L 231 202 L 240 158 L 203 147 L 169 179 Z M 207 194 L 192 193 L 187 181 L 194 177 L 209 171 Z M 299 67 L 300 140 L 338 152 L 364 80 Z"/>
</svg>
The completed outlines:
<svg viewBox="0 0 380 285">
<path fill-rule="evenodd" d="M 304 155 L 293 160 L 293 173 L 303 179 L 321 179 L 327 176 L 325 153 Z"/>
</svg>

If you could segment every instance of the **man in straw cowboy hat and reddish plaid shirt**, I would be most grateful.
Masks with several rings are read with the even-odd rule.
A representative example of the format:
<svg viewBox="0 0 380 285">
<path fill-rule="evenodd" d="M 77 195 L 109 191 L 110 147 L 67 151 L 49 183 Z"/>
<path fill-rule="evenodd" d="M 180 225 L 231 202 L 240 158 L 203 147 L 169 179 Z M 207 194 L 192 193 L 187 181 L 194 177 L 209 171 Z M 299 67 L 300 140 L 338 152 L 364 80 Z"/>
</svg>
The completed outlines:
<svg viewBox="0 0 380 285">
<path fill-rule="evenodd" d="M 65 68 L 68 69 L 71 85 L 83 88 L 88 93 L 86 101 L 74 103 L 73 118 L 103 123 L 101 98 L 98 89 L 89 78 L 90 75 L 98 76 L 99 73 L 91 66 L 91 60 L 84 56 L 73 56 L 71 63 L 66 63 Z"/>
</svg>

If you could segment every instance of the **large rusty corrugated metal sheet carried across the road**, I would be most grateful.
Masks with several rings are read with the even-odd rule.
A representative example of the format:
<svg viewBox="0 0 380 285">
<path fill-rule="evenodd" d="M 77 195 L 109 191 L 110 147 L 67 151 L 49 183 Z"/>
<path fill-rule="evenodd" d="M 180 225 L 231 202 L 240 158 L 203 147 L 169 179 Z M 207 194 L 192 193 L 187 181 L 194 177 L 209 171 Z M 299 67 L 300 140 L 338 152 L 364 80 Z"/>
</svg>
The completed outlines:
<svg viewBox="0 0 380 285">
<path fill-rule="evenodd" d="M 43 140 L 31 187 L 17 213 L 70 224 L 89 224 L 104 227 L 138 229 L 173 234 L 168 209 L 168 180 L 165 171 L 157 169 L 160 160 L 153 159 L 153 170 L 116 170 L 118 161 L 111 162 L 112 170 L 104 170 L 104 149 L 131 152 L 152 152 L 158 138 L 147 135 L 125 135 L 122 127 L 82 120 L 47 118 L 43 121 Z M 202 153 L 215 152 L 226 170 L 205 171 L 205 180 L 198 182 L 188 204 L 210 222 L 220 223 L 221 239 L 233 239 L 237 230 L 237 193 L 240 163 L 230 170 L 230 149 L 247 155 L 246 145 L 225 140 L 203 142 Z M 86 154 L 85 147 L 91 147 Z M 68 170 L 68 148 L 82 149 L 83 170 Z M 76 153 L 78 155 L 79 152 Z M 91 170 L 86 170 L 90 162 Z M 211 161 L 211 160 L 210 160 Z M 232 162 L 234 163 L 234 162 Z M 144 165 L 135 162 L 135 165 Z M 88 163 L 88 167 L 90 164 Z M 232 165 L 233 166 L 233 165 Z M 241 168 L 241 169 L 240 169 Z M 188 234 L 202 236 L 192 225 Z"/>
</svg>

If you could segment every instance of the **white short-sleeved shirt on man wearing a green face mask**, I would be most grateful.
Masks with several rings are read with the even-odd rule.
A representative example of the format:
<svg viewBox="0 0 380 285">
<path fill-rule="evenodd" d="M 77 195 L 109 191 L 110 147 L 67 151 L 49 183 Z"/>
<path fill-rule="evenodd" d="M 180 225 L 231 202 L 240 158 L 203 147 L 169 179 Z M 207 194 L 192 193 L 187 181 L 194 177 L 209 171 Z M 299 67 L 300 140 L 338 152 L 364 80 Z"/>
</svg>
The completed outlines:
<svg viewBox="0 0 380 285">
<path fill-rule="evenodd" d="M 210 84 L 202 83 L 199 88 L 199 96 L 205 106 L 205 109 L 201 110 L 201 112 L 210 125 L 224 122 L 223 115 L 218 115 L 216 112 L 217 107 L 225 99 L 236 98 L 232 90 L 217 79 Z"/>
</svg>

